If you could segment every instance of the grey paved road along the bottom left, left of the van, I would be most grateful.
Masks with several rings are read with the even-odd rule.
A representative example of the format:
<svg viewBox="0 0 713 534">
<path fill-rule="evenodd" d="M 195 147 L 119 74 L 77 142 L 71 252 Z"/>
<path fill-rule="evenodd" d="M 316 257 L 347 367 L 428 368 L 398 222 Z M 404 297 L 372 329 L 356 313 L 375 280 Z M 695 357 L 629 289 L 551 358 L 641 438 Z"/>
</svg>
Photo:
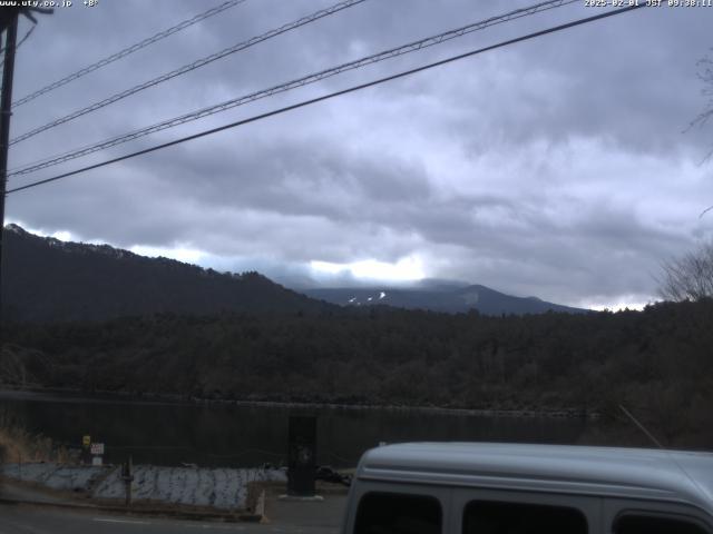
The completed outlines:
<svg viewBox="0 0 713 534">
<path fill-rule="evenodd" d="M 325 524 L 203 523 L 105 515 L 43 506 L 0 505 L 0 534 L 191 534 L 196 531 L 216 534 L 336 534 L 339 527 Z"/>
</svg>

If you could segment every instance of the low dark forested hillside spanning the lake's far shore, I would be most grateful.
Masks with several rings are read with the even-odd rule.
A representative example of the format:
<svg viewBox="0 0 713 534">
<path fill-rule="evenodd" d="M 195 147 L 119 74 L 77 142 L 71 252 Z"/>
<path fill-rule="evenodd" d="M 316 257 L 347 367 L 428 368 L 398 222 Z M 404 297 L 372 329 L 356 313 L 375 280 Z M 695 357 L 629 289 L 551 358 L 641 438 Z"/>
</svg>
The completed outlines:
<svg viewBox="0 0 713 534">
<path fill-rule="evenodd" d="M 16 325 L 6 383 L 186 397 L 618 414 L 713 445 L 713 300 L 644 312 L 487 317 L 156 315 Z"/>
</svg>

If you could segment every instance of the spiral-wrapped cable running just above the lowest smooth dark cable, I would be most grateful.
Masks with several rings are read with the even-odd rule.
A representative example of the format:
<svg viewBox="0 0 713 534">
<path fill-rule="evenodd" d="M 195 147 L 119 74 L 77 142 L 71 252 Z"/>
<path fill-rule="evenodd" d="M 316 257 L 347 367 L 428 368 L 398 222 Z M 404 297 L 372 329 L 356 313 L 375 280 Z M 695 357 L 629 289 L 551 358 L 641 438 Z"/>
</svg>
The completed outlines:
<svg viewBox="0 0 713 534">
<path fill-rule="evenodd" d="M 515 11 L 510 11 L 508 13 L 505 14 L 500 14 L 500 16 L 496 16 L 496 17 L 490 17 L 488 19 L 478 21 L 478 22 L 473 22 L 467 26 L 463 26 L 461 28 L 457 28 L 455 30 L 449 30 L 442 33 L 438 33 L 436 36 L 431 36 L 431 37 L 427 37 L 423 39 L 419 39 L 417 41 L 412 41 L 409 42 L 408 44 L 403 44 L 397 48 L 392 48 L 389 50 L 384 50 L 378 53 L 373 53 L 371 56 L 365 56 L 361 59 L 356 59 L 354 61 L 350 61 L 348 63 L 342 63 L 336 67 L 332 67 L 330 69 L 326 70 L 322 70 L 319 72 L 314 72 L 307 76 L 304 76 L 302 78 L 299 78 L 296 80 L 292 80 L 292 81 L 287 81 L 285 83 L 281 83 L 274 87 L 271 87 L 268 89 L 263 89 L 250 95 L 245 95 L 242 97 L 237 97 L 231 100 L 227 100 L 225 102 L 215 105 L 215 106 L 211 106 L 207 108 L 203 108 L 196 111 L 192 111 L 189 113 L 179 116 L 179 117 L 174 117 L 172 119 L 168 120 L 164 120 L 162 122 L 157 122 L 155 125 L 138 129 L 138 130 L 134 130 L 129 134 L 125 134 L 121 136 L 117 136 L 114 138 L 109 138 L 109 139 L 105 139 L 104 141 L 94 144 L 94 145 L 89 145 L 89 146 L 85 146 L 81 147 L 79 149 L 75 149 L 72 151 L 69 152 L 64 152 L 61 155 L 58 156 L 52 156 L 50 158 L 46 158 L 43 160 L 40 161 L 36 161 L 32 162 L 30 165 L 27 165 L 25 167 L 21 167 L 17 170 L 11 171 L 8 176 L 22 176 L 22 175 L 27 175 L 30 172 L 35 172 L 37 170 L 40 169 L 46 169 L 48 167 L 53 167 L 55 165 L 59 165 L 59 164 L 64 164 L 66 161 L 76 159 L 76 158 L 80 158 L 84 156 L 88 156 L 89 154 L 94 154 L 96 151 L 99 150 L 104 150 L 106 148 L 110 148 L 117 145 L 121 145 L 124 142 L 128 142 L 131 141 L 134 139 L 138 139 L 140 137 L 145 137 L 148 136 L 150 134 L 155 134 L 168 128 L 173 128 L 175 126 L 178 125 L 183 125 L 185 122 L 189 122 L 193 120 L 197 120 L 197 119 L 202 119 L 204 117 L 208 117 L 211 115 L 215 115 L 238 106 L 243 106 L 245 103 L 262 99 L 262 98 L 266 98 L 266 97 L 271 97 L 273 95 L 277 95 L 281 92 L 285 92 L 289 91 L 291 89 L 295 89 L 299 87 L 303 87 L 310 83 L 315 83 L 318 81 L 321 81 L 323 79 L 330 78 L 332 76 L 336 76 L 341 72 L 348 71 L 348 70 L 354 70 L 354 69 L 359 69 L 361 67 L 365 67 L 368 65 L 372 65 L 372 63 L 377 63 L 380 61 L 384 61 L 387 59 L 391 59 L 391 58 L 395 58 L 398 56 L 402 56 L 406 53 L 410 53 L 410 52 L 416 52 L 419 50 L 422 50 L 424 48 L 428 47 L 432 47 L 436 44 L 440 44 L 442 42 L 449 41 L 451 39 L 458 38 L 458 37 L 462 37 L 467 33 L 473 32 L 473 31 L 478 31 L 478 30 L 482 30 L 485 28 L 491 27 L 491 26 L 496 26 L 496 24 L 500 24 L 504 22 L 508 22 L 511 20 L 516 20 L 522 17 L 529 17 L 531 14 L 538 13 L 538 12 L 543 12 L 543 11 L 547 11 L 549 9 L 555 9 L 555 8 L 560 8 L 563 6 L 567 6 L 569 3 L 574 3 L 577 2 L 579 0 L 549 0 L 549 1 L 545 1 L 545 2 L 540 2 L 540 3 L 536 3 L 534 6 L 530 6 L 528 8 L 522 8 L 522 9 L 517 9 Z"/>
</svg>

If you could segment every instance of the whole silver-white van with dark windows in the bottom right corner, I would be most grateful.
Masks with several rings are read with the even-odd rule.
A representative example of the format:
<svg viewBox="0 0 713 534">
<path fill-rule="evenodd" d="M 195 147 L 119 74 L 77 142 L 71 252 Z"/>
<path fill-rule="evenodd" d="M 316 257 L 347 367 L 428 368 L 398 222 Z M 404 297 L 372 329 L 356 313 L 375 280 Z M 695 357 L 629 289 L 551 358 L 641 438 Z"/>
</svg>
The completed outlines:
<svg viewBox="0 0 713 534">
<path fill-rule="evenodd" d="M 344 534 L 713 534 L 713 454 L 499 443 L 367 452 Z"/>
</svg>

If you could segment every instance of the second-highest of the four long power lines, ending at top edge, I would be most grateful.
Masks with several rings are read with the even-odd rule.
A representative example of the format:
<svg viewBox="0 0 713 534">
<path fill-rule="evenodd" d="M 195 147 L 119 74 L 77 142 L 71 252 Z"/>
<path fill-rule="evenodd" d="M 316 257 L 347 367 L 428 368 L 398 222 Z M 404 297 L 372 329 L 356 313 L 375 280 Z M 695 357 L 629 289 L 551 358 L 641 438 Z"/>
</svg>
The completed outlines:
<svg viewBox="0 0 713 534">
<path fill-rule="evenodd" d="M 234 44 L 229 48 L 226 48 L 224 50 L 221 50 L 219 52 L 216 53 L 212 53 L 211 56 L 207 56 L 205 58 L 198 59 L 196 61 L 194 61 L 193 63 L 189 65 L 184 65 L 183 67 L 179 67 L 178 69 L 172 70 L 170 72 L 166 72 L 162 76 L 159 76 L 158 78 L 154 78 L 152 80 L 145 81 L 143 83 L 139 83 L 138 86 L 134 86 L 129 89 L 126 89 L 121 92 L 117 92 L 108 98 L 105 98 L 104 100 L 100 100 L 98 102 L 95 102 L 90 106 L 87 106 L 85 108 L 78 109 L 77 111 L 74 111 L 69 115 L 66 115 L 65 117 L 60 117 L 59 119 L 55 119 L 43 126 L 40 126 L 38 128 L 35 128 L 33 130 L 30 130 L 26 134 L 22 134 L 19 137 L 16 137 L 14 139 L 12 139 L 10 141 L 10 145 L 14 145 L 17 142 L 20 141 L 25 141 L 26 139 L 29 139 L 30 137 L 35 137 L 38 134 L 41 134 L 42 131 L 49 130 L 50 128 L 55 128 L 59 125 L 64 125 L 65 122 L 69 122 L 70 120 L 74 120 L 78 117 L 81 117 L 84 115 L 90 113 L 92 111 L 96 111 L 98 109 L 101 109 L 106 106 L 109 106 L 110 103 L 114 102 L 118 102 L 119 100 L 123 100 L 127 97 L 130 97 L 131 95 L 136 95 L 139 91 L 143 91 L 145 89 L 148 89 L 149 87 L 154 87 L 157 86 L 159 83 L 163 83 L 164 81 L 168 81 L 173 78 L 176 78 L 177 76 L 182 76 L 185 75 L 187 72 L 191 72 L 192 70 L 198 69 L 201 67 L 205 67 L 208 63 L 212 63 L 213 61 L 216 61 L 218 59 L 225 58 L 226 56 L 229 56 L 232 53 L 245 50 L 250 47 L 253 47 L 260 42 L 266 41 L 268 39 L 272 39 L 274 37 L 277 37 L 282 33 L 285 33 L 287 31 L 294 30 L 296 28 L 300 28 L 302 26 L 309 24 L 311 22 L 314 22 L 315 20 L 322 19 L 323 17 L 329 17 L 330 14 L 334 14 L 343 9 L 348 9 L 351 8 L 352 6 L 356 6 L 359 3 L 362 3 L 367 0 L 343 0 L 339 3 L 335 3 L 334 6 L 331 6 L 330 8 L 326 9 L 321 9 L 320 11 L 315 11 L 312 14 L 309 14 L 306 17 L 302 17 L 301 19 L 295 20 L 294 22 L 290 22 L 287 24 L 284 24 L 280 28 L 276 28 L 274 30 L 270 30 L 266 33 L 263 33 L 262 36 L 257 36 L 257 37 L 253 37 L 252 39 L 248 39 L 247 41 L 243 41 L 243 42 L 238 42 L 237 44 Z"/>
</svg>

